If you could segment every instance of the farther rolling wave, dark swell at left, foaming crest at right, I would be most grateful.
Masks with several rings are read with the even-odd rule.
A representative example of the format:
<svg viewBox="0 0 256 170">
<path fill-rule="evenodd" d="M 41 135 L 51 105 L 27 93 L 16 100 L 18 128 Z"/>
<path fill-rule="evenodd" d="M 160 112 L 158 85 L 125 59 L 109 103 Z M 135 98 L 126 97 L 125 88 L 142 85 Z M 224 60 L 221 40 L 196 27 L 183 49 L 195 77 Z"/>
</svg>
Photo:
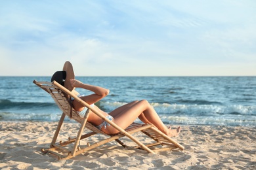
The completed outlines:
<svg viewBox="0 0 256 170">
<path fill-rule="evenodd" d="M 96 103 L 100 109 L 110 112 L 117 107 L 125 105 L 125 102 L 100 101 Z M 150 103 L 158 114 L 182 114 L 182 115 L 256 115 L 256 106 L 245 105 L 181 105 L 169 103 Z M 0 99 L 0 110 L 41 110 L 42 112 L 51 112 L 52 109 L 58 109 L 55 103 L 40 102 L 12 102 L 8 99 Z"/>
</svg>

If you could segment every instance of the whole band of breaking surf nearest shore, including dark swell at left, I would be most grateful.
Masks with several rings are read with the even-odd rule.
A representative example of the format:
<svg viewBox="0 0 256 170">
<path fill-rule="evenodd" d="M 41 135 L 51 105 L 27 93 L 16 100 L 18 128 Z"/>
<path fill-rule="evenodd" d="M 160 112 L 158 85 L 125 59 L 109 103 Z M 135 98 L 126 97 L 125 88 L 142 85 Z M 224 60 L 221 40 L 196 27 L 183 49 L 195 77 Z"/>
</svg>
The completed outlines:
<svg viewBox="0 0 256 170">
<path fill-rule="evenodd" d="M 125 102 L 100 101 L 100 109 L 110 112 Z M 181 105 L 150 103 L 165 124 L 256 126 L 256 106 Z M 0 120 L 58 121 L 61 110 L 55 103 L 0 100 Z M 70 121 L 66 118 L 66 121 Z"/>
</svg>

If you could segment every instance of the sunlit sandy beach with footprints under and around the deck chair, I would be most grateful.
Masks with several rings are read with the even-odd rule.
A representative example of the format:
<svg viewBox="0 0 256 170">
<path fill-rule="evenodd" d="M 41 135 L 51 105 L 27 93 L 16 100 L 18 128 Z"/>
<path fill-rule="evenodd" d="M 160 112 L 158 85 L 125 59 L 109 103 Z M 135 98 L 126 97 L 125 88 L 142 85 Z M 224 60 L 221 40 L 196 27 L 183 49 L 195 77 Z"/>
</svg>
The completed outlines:
<svg viewBox="0 0 256 170">
<path fill-rule="evenodd" d="M 57 122 L 0 122 L 0 169 L 256 169 L 255 127 L 182 126 L 175 137 L 185 147 L 182 152 L 148 154 L 113 141 L 71 160 L 56 160 L 41 153 L 56 126 Z M 65 123 L 60 138 L 74 136 L 78 128 L 79 124 Z M 100 137 L 104 136 L 92 140 Z"/>
</svg>

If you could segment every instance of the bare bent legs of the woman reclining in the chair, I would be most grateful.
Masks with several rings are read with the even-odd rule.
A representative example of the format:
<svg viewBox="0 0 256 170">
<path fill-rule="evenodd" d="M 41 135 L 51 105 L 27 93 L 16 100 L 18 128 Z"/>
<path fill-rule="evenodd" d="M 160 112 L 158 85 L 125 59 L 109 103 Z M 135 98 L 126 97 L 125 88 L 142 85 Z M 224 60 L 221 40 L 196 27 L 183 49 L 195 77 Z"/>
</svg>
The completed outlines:
<svg viewBox="0 0 256 170">
<path fill-rule="evenodd" d="M 142 112 L 144 113 L 144 116 L 148 120 L 148 122 L 156 126 L 158 129 L 160 129 L 160 131 L 162 131 L 169 137 L 178 135 L 181 131 L 180 127 L 178 127 L 178 129 L 167 128 L 161 121 L 156 111 L 146 100 L 138 101 L 137 103 L 134 103 L 132 107 L 129 107 L 128 109 L 123 110 L 123 112 L 121 112 L 120 114 L 117 114 L 114 117 L 114 123 L 125 129 L 126 127 L 131 125 Z M 110 115 L 111 114 L 113 113 L 110 112 Z M 108 126 L 107 129 L 104 129 L 104 131 L 112 134 L 118 133 L 118 131 L 112 126 Z"/>
</svg>

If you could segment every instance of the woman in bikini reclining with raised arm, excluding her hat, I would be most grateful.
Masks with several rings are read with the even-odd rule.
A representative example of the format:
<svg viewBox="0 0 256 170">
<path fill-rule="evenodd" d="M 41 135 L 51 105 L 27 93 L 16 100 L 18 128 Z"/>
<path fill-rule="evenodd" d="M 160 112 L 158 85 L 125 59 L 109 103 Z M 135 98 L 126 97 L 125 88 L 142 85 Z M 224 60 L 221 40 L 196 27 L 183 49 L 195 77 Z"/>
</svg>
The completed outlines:
<svg viewBox="0 0 256 170">
<path fill-rule="evenodd" d="M 68 80 L 66 79 L 66 81 Z M 71 86 L 74 88 L 72 90 L 72 93 L 79 96 L 83 101 L 87 102 L 89 105 L 94 107 L 94 109 L 96 109 L 98 112 L 101 112 L 104 116 L 106 116 L 106 118 L 108 118 L 123 129 L 131 125 L 136 118 L 139 118 L 145 124 L 152 124 L 153 126 L 157 127 L 158 129 L 160 129 L 160 131 L 162 131 L 169 137 L 176 136 L 181 131 L 181 127 L 178 127 L 177 129 L 171 129 L 166 127 L 156 113 L 156 110 L 154 110 L 154 108 L 146 100 L 133 101 L 113 110 L 112 112 L 106 113 L 100 110 L 94 104 L 97 101 L 100 101 L 100 99 L 106 97 L 110 90 L 99 86 L 84 84 L 79 80 L 75 80 L 73 78 L 70 78 L 69 81 Z M 75 88 L 90 90 L 91 92 L 93 92 L 93 94 L 79 95 L 79 93 L 75 91 Z M 73 100 L 72 102 L 73 107 L 77 112 L 81 114 L 84 114 L 84 112 L 86 112 L 87 108 L 81 105 L 81 103 L 75 100 Z M 94 114 L 93 112 L 89 112 L 89 118 L 87 121 L 94 124 L 98 129 L 104 131 L 104 133 L 115 134 L 119 132 L 114 127 L 109 126 L 107 122 L 102 120 L 102 118 L 96 116 L 96 114 Z"/>
</svg>

